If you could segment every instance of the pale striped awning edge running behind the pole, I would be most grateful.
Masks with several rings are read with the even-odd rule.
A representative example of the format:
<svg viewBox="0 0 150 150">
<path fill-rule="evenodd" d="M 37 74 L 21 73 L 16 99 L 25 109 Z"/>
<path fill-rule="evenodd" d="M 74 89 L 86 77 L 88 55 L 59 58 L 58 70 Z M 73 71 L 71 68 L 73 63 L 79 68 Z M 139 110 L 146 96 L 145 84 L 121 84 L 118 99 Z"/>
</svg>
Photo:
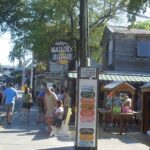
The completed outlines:
<svg viewBox="0 0 150 150">
<path fill-rule="evenodd" d="M 69 78 L 77 78 L 76 72 L 69 72 Z M 102 81 L 127 81 L 127 82 L 149 82 L 150 75 L 143 74 L 99 74 L 99 80 Z"/>
</svg>

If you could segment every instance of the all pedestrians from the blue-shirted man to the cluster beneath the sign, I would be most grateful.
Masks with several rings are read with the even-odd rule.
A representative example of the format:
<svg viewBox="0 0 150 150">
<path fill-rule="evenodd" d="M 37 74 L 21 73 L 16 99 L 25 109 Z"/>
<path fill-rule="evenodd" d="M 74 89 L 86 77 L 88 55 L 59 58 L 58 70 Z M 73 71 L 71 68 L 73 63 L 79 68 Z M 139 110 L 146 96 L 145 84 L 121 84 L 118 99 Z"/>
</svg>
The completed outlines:
<svg viewBox="0 0 150 150">
<path fill-rule="evenodd" d="M 6 122 L 12 123 L 12 115 L 17 100 L 17 90 L 13 84 L 9 84 L 3 93 L 2 103 L 5 104 Z M 26 86 L 22 95 L 22 116 L 21 119 L 30 122 L 30 109 L 33 104 L 32 94 Z M 71 108 L 71 98 L 66 88 L 55 93 L 52 87 L 44 87 L 37 95 L 36 105 L 38 108 L 36 123 L 47 125 L 47 132 L 52 135 L 52 125 L 60 128 L 65 120 L 68 109 Z"/>
</svg>

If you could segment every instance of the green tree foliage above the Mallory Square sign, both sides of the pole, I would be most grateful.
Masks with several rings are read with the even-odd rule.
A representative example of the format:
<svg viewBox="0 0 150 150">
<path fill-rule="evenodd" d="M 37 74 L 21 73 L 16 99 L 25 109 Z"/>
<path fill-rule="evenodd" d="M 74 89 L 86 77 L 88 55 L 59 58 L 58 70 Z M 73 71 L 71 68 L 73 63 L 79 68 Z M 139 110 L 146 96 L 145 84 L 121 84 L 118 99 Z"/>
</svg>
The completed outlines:
<svg viewBox="0 0 150 150">
<path fill-rule="evenodd" d="M 104 26 L 123 9 L 128 8 L 131 13 L 134 8 L 131 1 L 89 0 L 89 46 L 96 61 L 100 61 L 99 42 Z M 79 0 L 0 1 L 1 29 L 11 30 L 15 45 L 13 51 L 18 55 L 33 51 L 34 57 L 43 63 L 49 59 L 50 47 L 58 39 L 72 43 L 79 54 L 79 15 Z M 15 54 L 15 57 L 18 56 Z M 76 59 L 78 57 L 76 55 Z"/>
</svg>

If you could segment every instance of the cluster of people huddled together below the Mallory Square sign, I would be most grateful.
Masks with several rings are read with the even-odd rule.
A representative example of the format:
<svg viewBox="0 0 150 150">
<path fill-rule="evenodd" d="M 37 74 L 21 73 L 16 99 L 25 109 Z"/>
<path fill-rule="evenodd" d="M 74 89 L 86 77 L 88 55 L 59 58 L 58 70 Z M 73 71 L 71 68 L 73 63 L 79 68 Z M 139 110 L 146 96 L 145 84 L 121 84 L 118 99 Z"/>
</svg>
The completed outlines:
<svg viewBox="0 0 150 150">
<path fill-rule="evenodd" d="M 68 90 L 61 90 L 55 93 L 52 87 L 45 87 L 37 95 L 38 117 L 37 123 L 46 123 L 48 133 L 53 134 L 52 125 L 61 127 L 62 121 L 65 120 L 68 108 L 71 107 L 71 98 Z"/>
</svg>

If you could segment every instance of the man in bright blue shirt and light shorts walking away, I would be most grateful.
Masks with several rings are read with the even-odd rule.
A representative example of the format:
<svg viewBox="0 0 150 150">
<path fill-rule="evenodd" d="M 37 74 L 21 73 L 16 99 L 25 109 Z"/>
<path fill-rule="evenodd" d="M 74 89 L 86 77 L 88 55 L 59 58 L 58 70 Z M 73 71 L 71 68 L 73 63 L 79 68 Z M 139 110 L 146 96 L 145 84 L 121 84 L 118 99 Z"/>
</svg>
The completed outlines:
<svg viewBox="0 0 150 150">
<path fill-rule="evenodd" d="M 17 100 L 17 91 L 13 88 L 13 84 L 10 83 L 9 86 L 4 91 L 3 102 L 6 106 L 6 122 L 7 124 L 12 123 L 12 115 L 15 107 L 15 101 Z"/>
</svg>

